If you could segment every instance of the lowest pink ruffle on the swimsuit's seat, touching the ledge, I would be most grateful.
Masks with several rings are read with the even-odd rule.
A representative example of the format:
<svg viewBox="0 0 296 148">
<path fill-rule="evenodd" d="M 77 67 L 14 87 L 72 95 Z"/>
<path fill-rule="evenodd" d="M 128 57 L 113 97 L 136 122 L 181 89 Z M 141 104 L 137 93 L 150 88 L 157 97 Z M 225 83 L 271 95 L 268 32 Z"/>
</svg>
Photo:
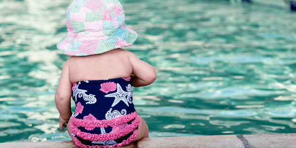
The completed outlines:
<svg viewBox="0 0 296 148">
<path fill-rule="evenodd" d="M 138 130 L 135 130 L 133 132 L 133 135 L 131 135 L 127 140 L 123 140 L 122 143 L 111 145 L 111 146 L 109 146 L 109 145 L 107 145 L 107 146 L 86 146 L 86 145 L 81 144 L 81 142 L 76 137 L 73 137 L 73 138 L 75 140 L 75 144 L 80 148 L 115 148 L 115 147 L 122 147 L 124 145 L 128 145 L 133 140 L 135 140 L 137 137 L 137 131 Z"/>
</svg>

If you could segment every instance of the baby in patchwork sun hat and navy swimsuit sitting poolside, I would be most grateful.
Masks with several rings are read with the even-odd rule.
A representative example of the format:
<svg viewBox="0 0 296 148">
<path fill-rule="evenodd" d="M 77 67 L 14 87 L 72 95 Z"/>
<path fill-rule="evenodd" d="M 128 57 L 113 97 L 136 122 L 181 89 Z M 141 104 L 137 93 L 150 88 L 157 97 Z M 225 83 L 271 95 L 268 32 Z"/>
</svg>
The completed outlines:
<svg viewBox="0 0 296 148">
<path fill-rule="evenodd" d="M 120 48 L 137 39 L 124 19 L 118 0 L 75 0 L 68 7 L 68 35 L 57 48 L 71 57 L 63 67 L 55 103 L 60 129 L 67 127 L 78 147 L 121 147 L 148 137 L 148 126 L 132 103 L 132 86 L 151 84 L 156 73 Z"/>
</svg>

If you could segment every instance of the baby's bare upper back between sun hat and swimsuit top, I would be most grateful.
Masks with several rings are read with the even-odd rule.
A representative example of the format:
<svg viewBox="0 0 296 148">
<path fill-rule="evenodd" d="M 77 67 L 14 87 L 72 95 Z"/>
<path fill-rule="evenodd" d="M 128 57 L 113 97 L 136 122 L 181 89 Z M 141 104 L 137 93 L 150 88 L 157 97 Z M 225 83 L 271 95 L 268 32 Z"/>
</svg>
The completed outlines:
<svg viewBox="0 0 296 148">
<path fill-rule="evenodd" d="M 129 54 L 123 49 L 113 49 L 97 55 L 72 56 L 67 61 L 70 81 L 129 77 L 133 72 Z"/>
</svg>

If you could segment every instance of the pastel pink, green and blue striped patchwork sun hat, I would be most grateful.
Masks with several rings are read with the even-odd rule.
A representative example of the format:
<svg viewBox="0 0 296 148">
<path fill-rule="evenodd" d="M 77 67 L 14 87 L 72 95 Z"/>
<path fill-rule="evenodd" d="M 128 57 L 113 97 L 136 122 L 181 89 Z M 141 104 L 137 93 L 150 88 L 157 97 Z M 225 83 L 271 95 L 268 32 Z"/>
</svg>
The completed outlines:
<svg viewBox="0 0 296 148">
<path fill-rule="evenodd" d="M 67 37 L 57 48 L 66 55 L 86 56 L 130 46 L 138 35 L 124 19 L 118 0 L 75 0 L 67 9 Z"/>
</svg>

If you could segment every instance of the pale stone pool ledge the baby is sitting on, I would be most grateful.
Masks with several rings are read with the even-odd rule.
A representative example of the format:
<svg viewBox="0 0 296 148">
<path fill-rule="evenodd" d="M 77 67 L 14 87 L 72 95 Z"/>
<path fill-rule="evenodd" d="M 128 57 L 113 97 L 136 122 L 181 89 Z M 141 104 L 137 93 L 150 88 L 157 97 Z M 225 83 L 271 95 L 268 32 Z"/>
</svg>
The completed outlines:
<svg viewBox="0 0 296 148">
<path fill-rule="evenodd" d="M 0 148 L 78 148 L 73 141 L 0 143 Z M 121 148 L 296 148 L 296 134 L 150 137 Z"/>
</svg>

